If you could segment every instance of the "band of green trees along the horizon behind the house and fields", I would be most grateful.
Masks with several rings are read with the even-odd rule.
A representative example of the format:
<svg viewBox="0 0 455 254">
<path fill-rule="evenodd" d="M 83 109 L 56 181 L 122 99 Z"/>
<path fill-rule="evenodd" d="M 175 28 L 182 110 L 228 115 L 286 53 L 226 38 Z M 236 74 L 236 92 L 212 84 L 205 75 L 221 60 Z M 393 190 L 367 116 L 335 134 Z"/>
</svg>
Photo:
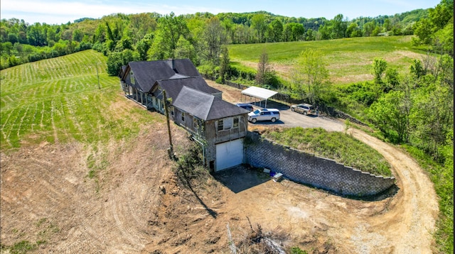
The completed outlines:
<svg viewBox="0 0 455 254">
<path fill-rule="evenodd" d="M 394 16 L 360 17 L 348 21 L 342 14 L 328 20 L 277 16 L 265 11 L 181 16 L 115 13 L 60 25 L 2 19 L 0 67 L 4 69 L 89 48 L 105 55 L 117 53 L 112 61 L 122 60 L 123 63 L 125 60 L 188 57 L 196 65 L 218 64 L 220 45 L 410 35 L 417 22 L 430 14 L 429 9 L 417 9 Z M 424 28 L 419 31 L 424 33 Z M 112 70 L 109 73 L 114 74 Z"/>
</svg>

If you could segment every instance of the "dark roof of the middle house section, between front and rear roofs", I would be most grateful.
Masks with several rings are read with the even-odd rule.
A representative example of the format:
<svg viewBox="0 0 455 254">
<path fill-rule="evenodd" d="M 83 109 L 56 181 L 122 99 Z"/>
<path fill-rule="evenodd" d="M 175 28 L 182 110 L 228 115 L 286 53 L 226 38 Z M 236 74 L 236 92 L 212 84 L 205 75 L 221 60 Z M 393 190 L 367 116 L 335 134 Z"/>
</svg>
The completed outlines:
<svg viewBox="0 0 455 254">
<path fill-rule="evenodd" d="M 166 90 L 166 97 L 176 99 L 178 93 L 181 91 L 182 87 L 191 87 L 201 92 L 207 94 L 220 93 L 221 91 L 210 87 L 203 77 L 187 77 L 179 79 L 166 79 L 159 80 L 158 83 L 161 89 Z M 160 94 L 154 94 L 156 97 L 160 98 Z"/>
</svg>

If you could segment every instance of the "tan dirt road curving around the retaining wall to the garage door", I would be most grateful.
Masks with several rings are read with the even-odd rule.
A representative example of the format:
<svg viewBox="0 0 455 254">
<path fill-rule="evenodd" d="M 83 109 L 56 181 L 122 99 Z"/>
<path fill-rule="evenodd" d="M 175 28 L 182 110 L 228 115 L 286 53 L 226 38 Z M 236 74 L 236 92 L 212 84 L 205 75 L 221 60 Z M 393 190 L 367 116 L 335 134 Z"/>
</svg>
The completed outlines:
<svg viewBox="0 0 455 254">
<path fill-rule="evenodd" d="M 291 242 L 316 253 L 432 253 L 438 204 L 429 177 L 399 148 L 357 129 L 348 133 L 390 162 L 399 188 L 392 197 L 348 199 L 288 180 L 262 180 L 235 192 L 236 182 L 250 182 L 250 174 L 232 171 L 220 177 L 232 190 L 223 194 L 225 211 L 234 218 L 248 216 L 272 232 L 284 231 Z"/>
</svg>

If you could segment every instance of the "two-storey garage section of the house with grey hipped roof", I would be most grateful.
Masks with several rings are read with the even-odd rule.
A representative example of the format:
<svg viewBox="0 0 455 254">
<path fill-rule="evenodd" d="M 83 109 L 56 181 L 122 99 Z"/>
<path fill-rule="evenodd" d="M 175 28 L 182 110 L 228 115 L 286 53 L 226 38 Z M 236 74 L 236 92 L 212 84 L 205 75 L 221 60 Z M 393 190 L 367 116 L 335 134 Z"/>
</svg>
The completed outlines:
<svg viewBox="0 0 455 254">
<path fill-rule="evenodd" d="M 174 123 L 202 141 L 210 170 L 242 164 L 250 111 L 191 87 L 182 87 L 169 111 Z"/>
</svg>

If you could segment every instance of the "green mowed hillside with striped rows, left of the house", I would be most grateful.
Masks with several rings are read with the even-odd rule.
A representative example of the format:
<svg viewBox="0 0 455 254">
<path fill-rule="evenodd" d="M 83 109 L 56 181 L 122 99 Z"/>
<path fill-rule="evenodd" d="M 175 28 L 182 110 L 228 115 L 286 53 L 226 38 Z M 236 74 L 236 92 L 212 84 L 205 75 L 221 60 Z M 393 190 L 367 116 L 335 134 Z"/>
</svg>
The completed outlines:
<svg viewBox="0 0 455 254">
<path fill-rule="evenodd" d="M 125 138 L 139 133 L 141 124 L 162 121 L 140 107 L 122 106 L 119 78 L 109 77 L 106 60 L 85 50 L 1 70 L 1 150 Z"/>
</svg>

